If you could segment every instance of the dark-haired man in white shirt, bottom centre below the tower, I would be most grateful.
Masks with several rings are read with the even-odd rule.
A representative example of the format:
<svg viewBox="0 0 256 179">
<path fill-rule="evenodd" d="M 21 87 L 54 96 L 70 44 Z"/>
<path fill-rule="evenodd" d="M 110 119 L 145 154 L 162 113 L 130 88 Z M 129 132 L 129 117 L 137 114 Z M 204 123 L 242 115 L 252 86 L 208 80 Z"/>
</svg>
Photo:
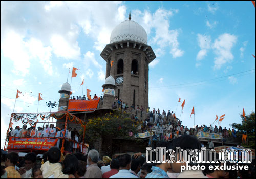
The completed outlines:
<svg viewBox="0 0 256 179">
<path fill-rule="evenodd" d="M 134 174 L 130 173 L 132 159 L 129 154 L 124 154 L 119 156 L 119 171 L 117 174 L 111 176 L 110 178 L 139 178 Z"/>
</svg>

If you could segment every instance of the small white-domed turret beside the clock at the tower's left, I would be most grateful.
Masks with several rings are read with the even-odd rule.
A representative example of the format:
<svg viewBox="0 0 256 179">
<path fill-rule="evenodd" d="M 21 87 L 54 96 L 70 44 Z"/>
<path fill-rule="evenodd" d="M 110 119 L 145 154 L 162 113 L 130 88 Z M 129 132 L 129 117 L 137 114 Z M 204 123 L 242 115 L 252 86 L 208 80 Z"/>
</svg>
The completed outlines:
<svg viewBox="0 0 256 179">
<path fill-rule="evenodd" d="M 115 85 L 115 79 L 112 76 L 109 76 L 105 80 L 105 84 L 102 85 L 104 90 L 103 96 L 103 108 L 112 108 L 112 104 L 115 100 L 115 89 L 117 86 Z"/>
</svg>

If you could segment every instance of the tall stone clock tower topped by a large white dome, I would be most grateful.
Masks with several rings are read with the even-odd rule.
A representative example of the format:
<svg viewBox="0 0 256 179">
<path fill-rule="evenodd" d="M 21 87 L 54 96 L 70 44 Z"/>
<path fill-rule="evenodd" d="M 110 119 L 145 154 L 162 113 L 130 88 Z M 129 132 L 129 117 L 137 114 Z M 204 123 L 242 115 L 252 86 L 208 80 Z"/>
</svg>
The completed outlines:
<svg viewBox="0 0 256 179">
<path fill-rule="evenodd" d="M 106 77 L 111 75 L 115 79 L 116 96 L 129 106 L 142 105 L 147 109 L 148 64 L 156 55 L 147 45 L 145 29 L 131 20 L 131 14 L 129 20 L 114 28 L 110 44 L 100 56 L 106 61 Z"/>
</svg>

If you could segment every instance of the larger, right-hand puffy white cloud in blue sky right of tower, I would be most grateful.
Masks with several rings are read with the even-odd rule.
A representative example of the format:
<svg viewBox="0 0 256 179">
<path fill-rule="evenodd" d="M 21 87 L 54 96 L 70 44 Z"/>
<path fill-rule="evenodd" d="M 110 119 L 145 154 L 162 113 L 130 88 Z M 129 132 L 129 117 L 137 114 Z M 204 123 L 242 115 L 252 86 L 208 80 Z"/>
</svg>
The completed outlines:
<svg viewBox="0 0 256 179">
<path fill-rule="evenodd" d="M 237 36 L 231 35 L 228 33 L 224 33 L 215 40 L 212 48 L 214 49 L 214 53 L 217 55 L 214 61 L 214 69 L 220 69 L 222 65 L 227 62 L 231 62 L 233 54 L 231 53 L 231 49 L 237 42 Z"/>
</svg>

